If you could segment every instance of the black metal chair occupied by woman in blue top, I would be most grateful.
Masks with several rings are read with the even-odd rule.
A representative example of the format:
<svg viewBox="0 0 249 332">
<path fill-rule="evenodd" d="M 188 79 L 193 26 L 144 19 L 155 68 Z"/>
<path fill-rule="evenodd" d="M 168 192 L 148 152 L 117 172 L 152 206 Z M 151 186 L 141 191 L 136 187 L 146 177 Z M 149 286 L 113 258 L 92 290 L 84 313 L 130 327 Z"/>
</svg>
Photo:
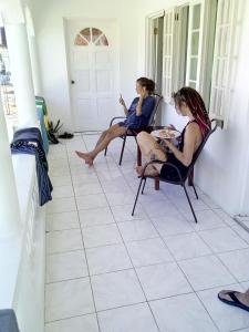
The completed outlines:
<svg viewBox="0 0 249 332">
<path fill-rule="evenodd" d="M 158 95 L 158 94 L 155 94 L 155 106 L 154 106 L 154 110 L 151 114 L 151 117 L 149 117 L 149 121 L 148 121 L 148 125 L 146 127 L 149 127 L 149 126 L 153 126 L 154 123 L 155 123 L 155 116 L 156 116 L 156 112 L 158 110 L 158 106 L 159 106 L 159 103 L 160 101 L 163 100 L 163 96 Z M 115 116 L 111 120 L 111 123 L 110 123 L 110 127 L 113 125 L 113 122 L 116 121 L 116 120 L 120 120 L 120 118 L 126 118 L 126 116 Z M 124 135 L 122 135 L 120 138 L 123 139 L 123 144 L 122 144 L 122 149 L 121 149 L 121 156 L 120 156 L 120 162 L 118 162 L 118 165 L 122 164 L 122 159 L 123 159 L 123 154 L 124 154 L 124 148 L 125 148 L 125 143 L 126 143 L 126 138 L 128 136 L 132 136 L 135 138 L 136 141 L 136 135 L 139 133 L 139 132 L 143 132 L 143 131 L 146 131 L 146 127 L 143 127 L 143 128 L 138 128 L 138 129 L 133 129 L 133 128 L 129 128 L 127 127 L 126 128 L 126 132 Z M 136 142 L 137 144 L 137 142 Z M 105 156 L 106 156 L 106 153 L 107 153 L 107 147 L 105 148 Z"/>
</svg>

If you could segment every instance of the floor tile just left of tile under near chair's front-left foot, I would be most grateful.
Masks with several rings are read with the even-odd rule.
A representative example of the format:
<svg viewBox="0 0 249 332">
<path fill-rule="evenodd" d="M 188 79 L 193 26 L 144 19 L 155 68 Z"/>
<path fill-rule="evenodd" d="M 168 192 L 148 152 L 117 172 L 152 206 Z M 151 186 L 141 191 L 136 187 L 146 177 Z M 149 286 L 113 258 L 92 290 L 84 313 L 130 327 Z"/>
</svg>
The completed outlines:
<svg viewBox="0 0 249 332">
<path fill-rule="evenodd" d="M 115 222 L 110 207 L 79 211 L 81 227 L 107 225 Z"/>
</svg>

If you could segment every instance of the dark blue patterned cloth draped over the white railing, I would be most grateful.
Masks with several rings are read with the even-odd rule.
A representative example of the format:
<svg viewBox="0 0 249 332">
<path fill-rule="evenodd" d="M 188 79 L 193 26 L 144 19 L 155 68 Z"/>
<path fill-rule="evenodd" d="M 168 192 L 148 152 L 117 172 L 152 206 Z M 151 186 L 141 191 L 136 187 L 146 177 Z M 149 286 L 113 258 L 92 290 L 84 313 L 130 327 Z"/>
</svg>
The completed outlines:
<svg viewBox="0 0 249 332">
<path fill-rule="evenodd" d="M 35 156 L 39 204 L 42 206 L 51 200 L 53 186 L 48 174 L 49 165 L 43 149 L 40 129 L 31 127 L 17 131 L 10 147 L 12 154 L 28 154 Z"/>
</svg>

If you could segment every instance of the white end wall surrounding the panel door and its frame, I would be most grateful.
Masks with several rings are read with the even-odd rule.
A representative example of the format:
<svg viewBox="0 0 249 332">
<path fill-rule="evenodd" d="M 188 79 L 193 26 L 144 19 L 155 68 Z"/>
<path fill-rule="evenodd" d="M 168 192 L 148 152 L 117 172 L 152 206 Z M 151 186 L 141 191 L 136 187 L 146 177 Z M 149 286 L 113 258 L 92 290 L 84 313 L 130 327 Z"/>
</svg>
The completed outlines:
<svg viewBox="0 0 249 332">
<path fill-rule="evenodd" d="M 37 0 L 32 4 L 32 13 L 43 96 L 50 117 L 61 118 L 63 129 L 72 129 L 63 18 L 117 20 L 121 54 L 117 91 L 122 92 L 127 103 L 131 102 L 135 95 L 138 60 L 137 7 L 134 1 Z"/>
</svg>

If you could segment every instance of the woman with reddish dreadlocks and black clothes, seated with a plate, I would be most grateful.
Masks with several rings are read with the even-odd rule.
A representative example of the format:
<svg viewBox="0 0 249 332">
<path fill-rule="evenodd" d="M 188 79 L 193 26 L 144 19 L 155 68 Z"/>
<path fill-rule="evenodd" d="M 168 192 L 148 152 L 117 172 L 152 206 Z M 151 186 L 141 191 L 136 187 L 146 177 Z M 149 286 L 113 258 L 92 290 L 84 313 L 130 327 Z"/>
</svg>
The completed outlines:
<svg viewBox="0 0 249 332">
<path fill-rule="evenodd" d="M 173 94 L 173 98 L 176 112 L 188 117 L 188 123 L 180 134 L 178 146 L 175 146 L 169 139 L 164 139 L 165 145 L 172 152 L 166 154 L 165 148 L 146 132 L 137 135 L 137 143 L 147 160 L 159 159 L 174 164 L 184 177 L 191 164 L 195 152 L 210 131 L 211 124 L 204 101 L 196 90 L 181 87 Z M 137 166 L 136 172 L 142 175 L 143 166 Z M 149 164 L 146 167 L 145 175 L 160 175 L 169 180 L 178 179 L 177 172 L 173 167 L 168 167 L 167 164 Z"/>
</svg>

